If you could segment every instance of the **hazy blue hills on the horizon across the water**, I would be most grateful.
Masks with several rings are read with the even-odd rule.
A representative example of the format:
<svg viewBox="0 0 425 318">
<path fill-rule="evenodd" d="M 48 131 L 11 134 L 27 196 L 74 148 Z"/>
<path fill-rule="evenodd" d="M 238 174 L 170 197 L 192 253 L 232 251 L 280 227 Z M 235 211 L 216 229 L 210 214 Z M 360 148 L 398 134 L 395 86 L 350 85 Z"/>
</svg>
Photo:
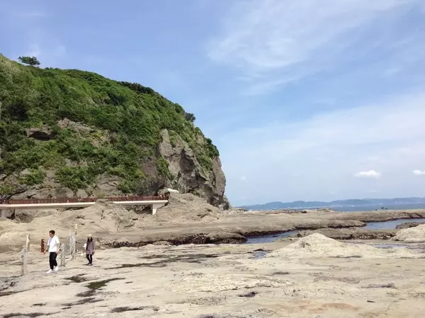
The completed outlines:
<svg viewBox="0 0 425 318">
<path fill-rule="evenodd" d="M 266 204 L 254 204 L 251 206 L 241 206 L 249 210 L 275 210 L 283 208 L 327 208 L 342 206 L 385 206 L 391 204 L 422 204 L 425 198 L 395 198 L 395 199 L 346 199 L 330 202 L 323 201 L 293 201 L 293 202 L 269 202 Z"/>
</svg>

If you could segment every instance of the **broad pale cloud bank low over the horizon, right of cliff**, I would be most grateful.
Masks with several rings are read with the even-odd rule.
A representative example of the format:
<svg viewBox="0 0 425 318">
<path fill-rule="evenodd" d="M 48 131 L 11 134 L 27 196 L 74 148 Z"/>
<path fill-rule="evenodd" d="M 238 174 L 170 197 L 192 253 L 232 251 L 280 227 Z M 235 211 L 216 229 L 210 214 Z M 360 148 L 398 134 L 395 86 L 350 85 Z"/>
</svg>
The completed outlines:
<svg viewBox="0 0 425 318">
<path fill-rule="evenodd" d="M 237 192 L 244 187 L 253 193 L 254 202 L 267 201 L 255 197 L 256 189 L 262 187 L 281 189 L 276 197 L 268 196 L 269 201 L 323 199 L 323 194 L 317 196 L 319 192 L 336 188 L 341 197 L 365 196 L 370 190 L 389 196 L 415 193 L 413 186 L 399 189 L 399 185 L 403 178 L 407 180 L 409 167 L 421 165 L 423 155 L 418 154 L 424 153 L 424 105 L 425 94 L 412 93 L 227 134 L 220 141 L 220 151 L 228 189 Z M 353 178 L 356 171 L 361 172 L 359 178 Z M 240 175 L 255 180 L 254 184 L 242 183 Z M 360 177 L 373 177 L 376 182 L 364 184 Z"/>
</svg>

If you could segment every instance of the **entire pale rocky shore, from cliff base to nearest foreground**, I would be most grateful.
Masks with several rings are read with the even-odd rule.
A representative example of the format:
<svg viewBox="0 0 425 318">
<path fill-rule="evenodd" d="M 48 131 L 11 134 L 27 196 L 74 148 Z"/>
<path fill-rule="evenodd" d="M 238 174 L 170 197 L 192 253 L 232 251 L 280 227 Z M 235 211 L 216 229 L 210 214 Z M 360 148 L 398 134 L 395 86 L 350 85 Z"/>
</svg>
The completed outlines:
<svg viewBox="0 0 425 318">
<path fill-rule="evenodd" d="M 0 219 L 0 317 L 423 317 L 424 210 L 221 211 L 191 194 L 155 216 L 108 201 Z M 370 230 L 366 223 L 404 219 Z M 420 222 L 420 221 L 419 221 Z M 54 229 L 77 254 L 46 274 Z M 253 236 L 297 231 L 257 244 Z M 86 266 L 86 235 L 96 240 Z M 11 260 L 30 235 L 28 273 Z"/>
</svg>

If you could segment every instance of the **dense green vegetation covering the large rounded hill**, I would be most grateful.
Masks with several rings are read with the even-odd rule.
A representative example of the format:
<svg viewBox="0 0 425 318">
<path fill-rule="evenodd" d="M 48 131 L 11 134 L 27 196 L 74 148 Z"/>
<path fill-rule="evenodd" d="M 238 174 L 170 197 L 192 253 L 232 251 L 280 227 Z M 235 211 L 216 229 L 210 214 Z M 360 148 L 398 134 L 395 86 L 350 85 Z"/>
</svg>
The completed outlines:
<svg viewBox="0 0 425 318">
<path fill-rule="evenodd" d="M 206 171 L 218 155 L 210 139 L 185 119 L 180 105 L 151 88 L 96 73 L 23 66 L 0 54 L 0 102 L 0 175 L 29 169 L 30 174 L 21 177 L 28 185 L 42 182 L 48 169 L 56 172 L 64 187 L 86 189 L 108 172 L 121 178 L 120 190 L 136 193 L 146 177 L 141 164 L 154 157 L 161 129 L 188 142 Z M 60 129 L 57 123 L 64 118 L 96 132 Z M 27 137 L 26 129 L 42 126 L 50 127 L 55 138 Z M 78 165 L 65 166 L 66 159 Z M 164 159 L 155 160 L 159 172 L 166 175 Z M 0 183 L 0 193 L 11 192 L 13 186 Z"/>
</svg>

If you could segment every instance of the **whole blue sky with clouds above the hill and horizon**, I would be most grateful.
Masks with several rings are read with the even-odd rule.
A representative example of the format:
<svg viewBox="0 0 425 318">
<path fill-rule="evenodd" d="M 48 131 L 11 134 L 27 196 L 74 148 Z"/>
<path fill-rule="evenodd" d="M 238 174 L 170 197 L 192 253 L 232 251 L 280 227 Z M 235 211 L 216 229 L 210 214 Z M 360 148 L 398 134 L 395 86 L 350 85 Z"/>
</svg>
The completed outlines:
<svg viewBox="0 0 425 318">
<path fill-rule="evenodd" d="M 425 196 L 422 0 L 4 1 L 0 52 L 157 90 L 233 205 Z"/>
</svg>

